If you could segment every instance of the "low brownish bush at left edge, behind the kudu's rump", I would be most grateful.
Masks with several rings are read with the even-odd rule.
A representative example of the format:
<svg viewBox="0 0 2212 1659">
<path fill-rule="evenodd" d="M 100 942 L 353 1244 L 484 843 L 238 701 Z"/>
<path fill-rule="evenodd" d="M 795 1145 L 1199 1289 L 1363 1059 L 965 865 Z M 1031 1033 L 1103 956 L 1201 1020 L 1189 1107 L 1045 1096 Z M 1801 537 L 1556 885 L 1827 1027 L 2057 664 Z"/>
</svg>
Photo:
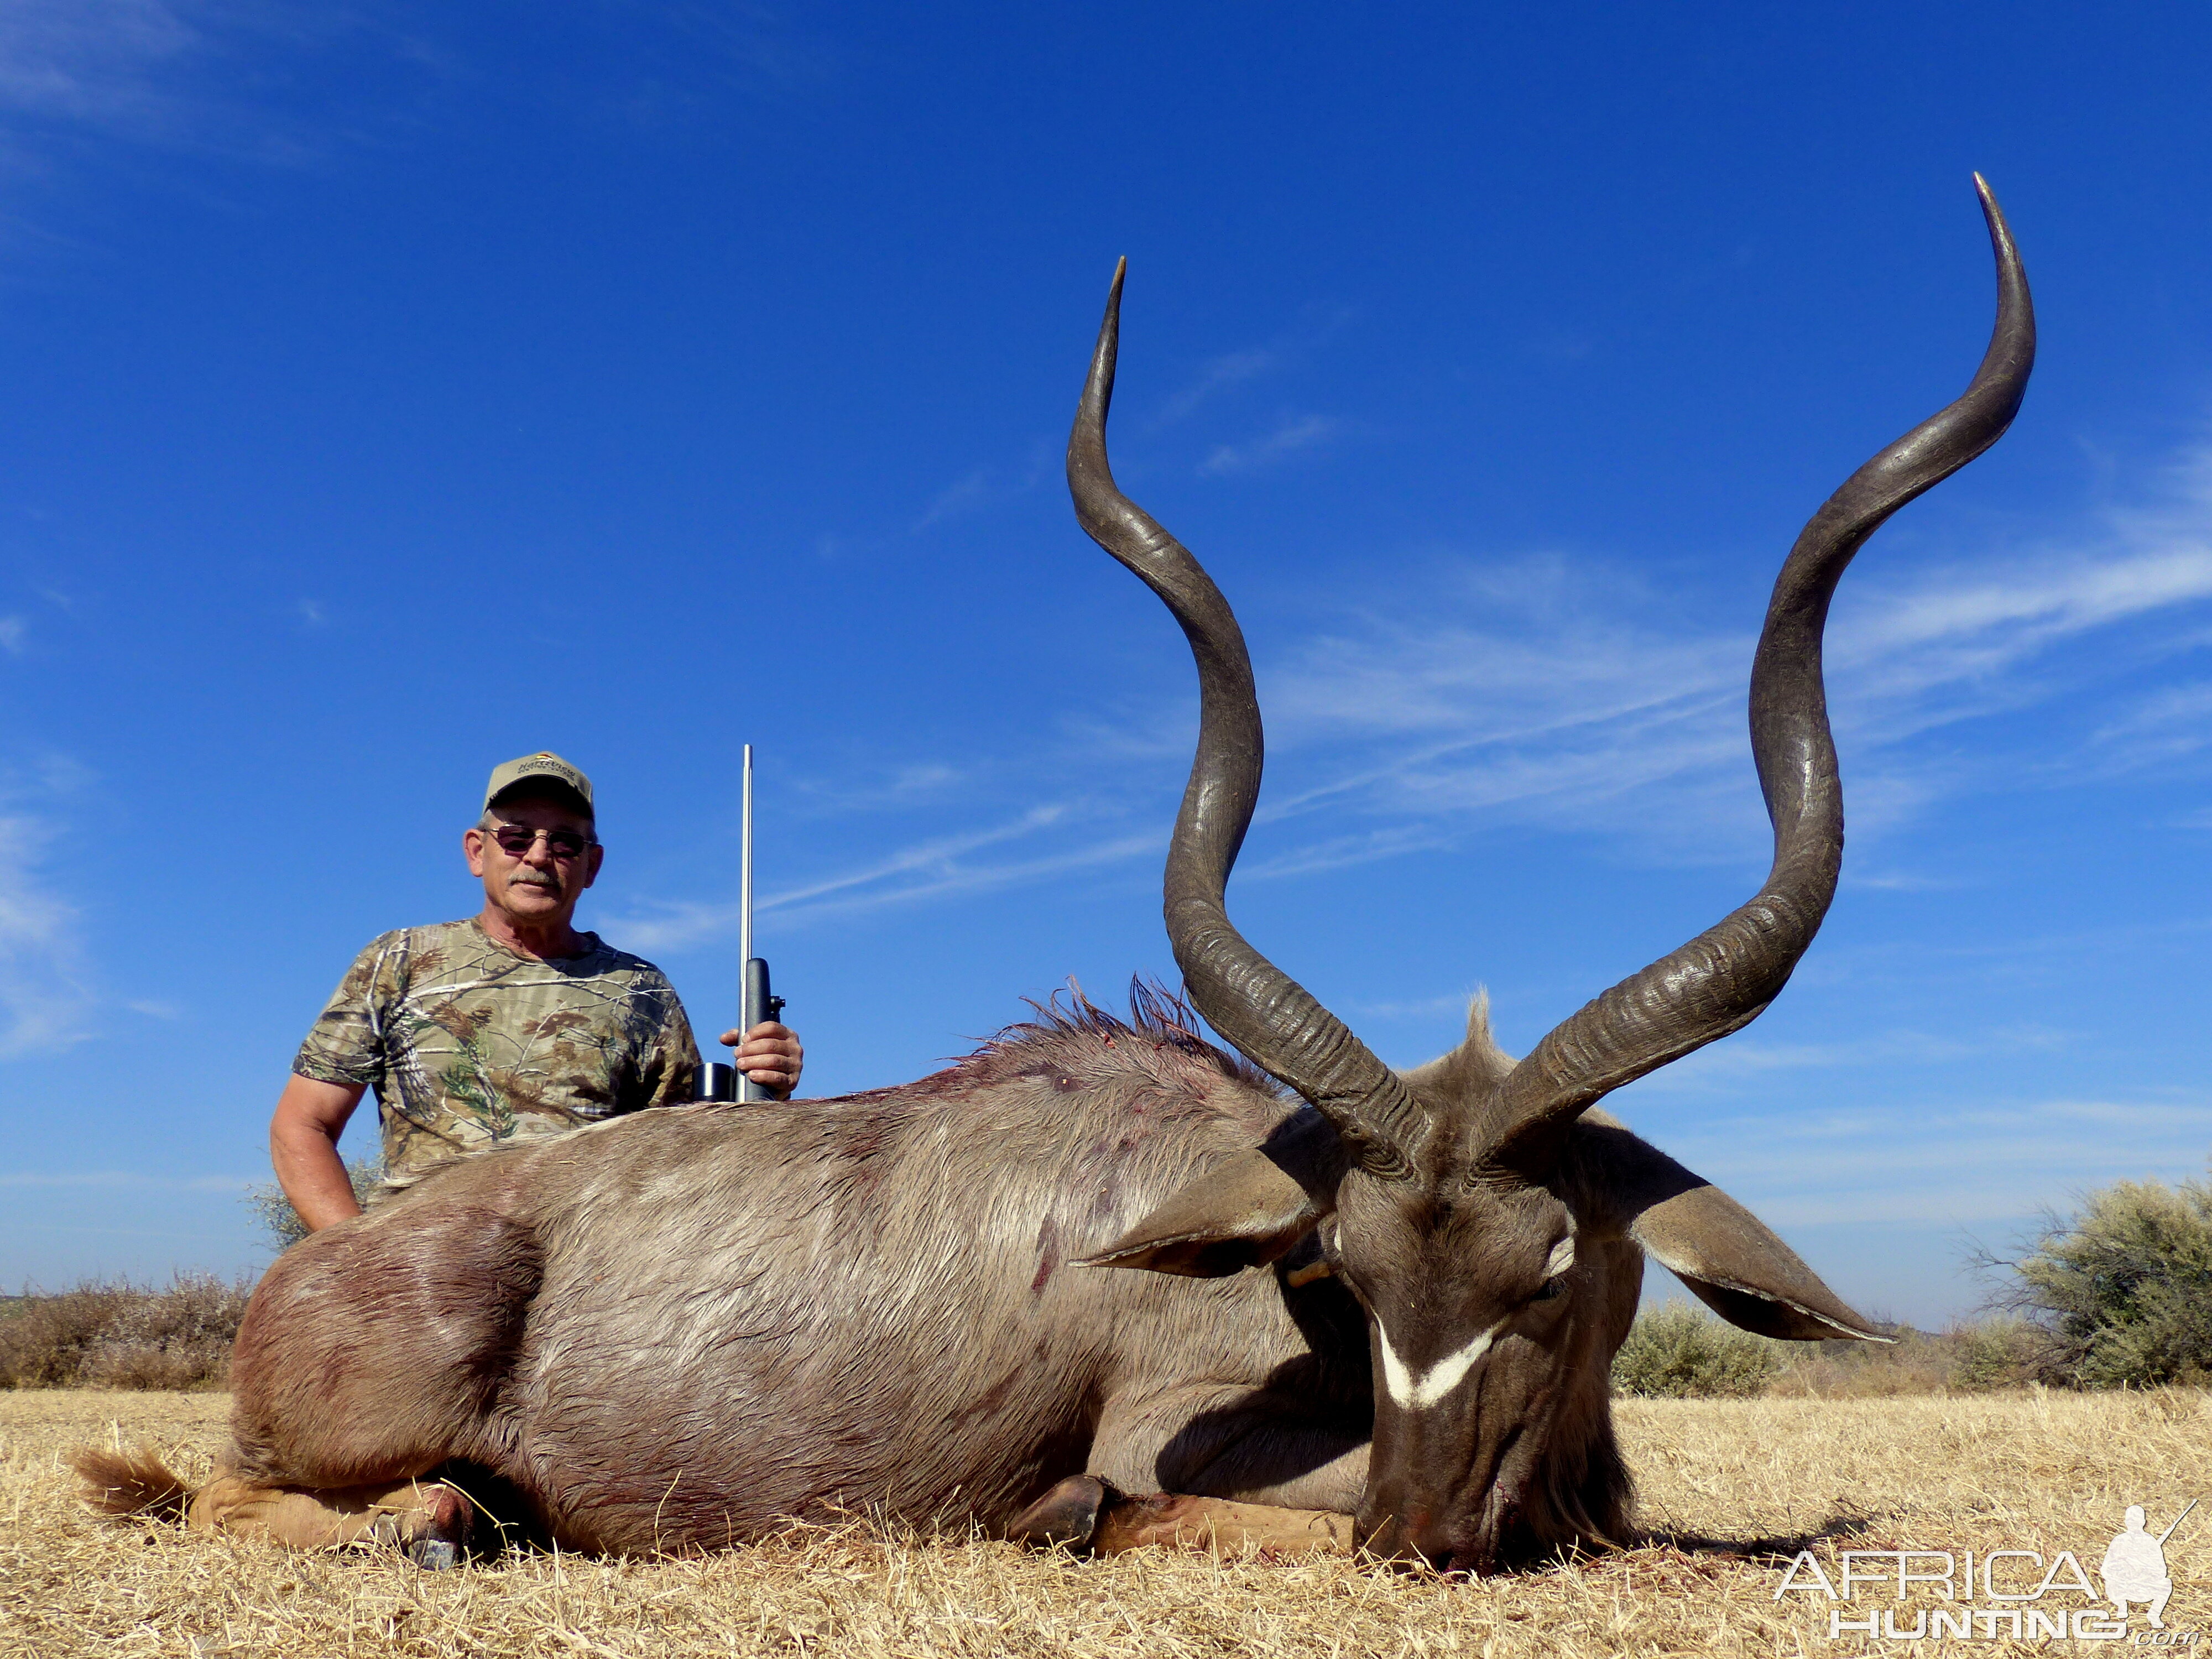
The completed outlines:
<svg viewBox="0 0 2212 1659">
<path fill-rule="evenodd" d="M 0 1321 L 0 1387 L 219 1389 L 252 1285 L 177 1274 L 168 1290 L 88 1279 Z"/>
</svg>

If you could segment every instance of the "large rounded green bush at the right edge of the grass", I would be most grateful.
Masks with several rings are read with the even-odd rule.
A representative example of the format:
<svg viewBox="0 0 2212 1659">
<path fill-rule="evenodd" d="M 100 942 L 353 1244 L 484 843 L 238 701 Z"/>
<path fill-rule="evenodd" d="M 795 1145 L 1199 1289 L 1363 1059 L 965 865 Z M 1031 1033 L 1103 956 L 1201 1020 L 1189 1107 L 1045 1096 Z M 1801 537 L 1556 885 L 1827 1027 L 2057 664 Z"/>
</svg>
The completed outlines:
<svg viewBox="0 0 2212 1659">
<path fill-rule="evenodd" d="M 2088 1389 L 2212 1383 L 2212 1186 L 2119 1181 L 2053 1217 L 2000 1301 L 2044 1336 L 2046 1380 Z"/>
</svg>

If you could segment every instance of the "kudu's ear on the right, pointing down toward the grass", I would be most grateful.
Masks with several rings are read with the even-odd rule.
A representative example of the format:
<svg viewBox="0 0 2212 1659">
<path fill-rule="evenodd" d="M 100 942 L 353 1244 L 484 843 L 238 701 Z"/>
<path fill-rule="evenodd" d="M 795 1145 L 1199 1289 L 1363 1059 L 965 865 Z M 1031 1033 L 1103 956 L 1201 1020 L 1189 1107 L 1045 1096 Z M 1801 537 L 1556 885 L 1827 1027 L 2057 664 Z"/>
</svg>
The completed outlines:
<svg viewBox="0 0 2212 1659">
<path fill-rule="evenodd" d="M 1584 1113 L 1564 1172 L 1582 1225 L 1635 1239 L 1730 1325 L 1787 1343 L 1889 1340 L 1759 1217 L 1619 1119 Z"/>
</svg>

